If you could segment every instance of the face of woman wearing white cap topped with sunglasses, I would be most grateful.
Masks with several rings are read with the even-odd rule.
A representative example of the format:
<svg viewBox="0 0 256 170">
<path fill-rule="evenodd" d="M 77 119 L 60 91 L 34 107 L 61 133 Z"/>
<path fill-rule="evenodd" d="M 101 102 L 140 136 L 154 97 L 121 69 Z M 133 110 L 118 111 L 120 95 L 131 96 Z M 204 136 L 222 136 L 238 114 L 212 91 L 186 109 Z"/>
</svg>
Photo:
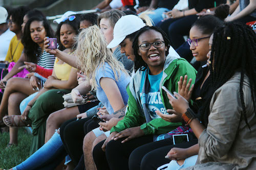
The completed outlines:
<svg viewBox="0 0 256 170">
<path fill-rule="evenodd" d="M 63 24 L 60 27 L 60 42 L 65 48 L 71 48 L 74 44 L 75 30 L 68 24 Z"/>
</svg>

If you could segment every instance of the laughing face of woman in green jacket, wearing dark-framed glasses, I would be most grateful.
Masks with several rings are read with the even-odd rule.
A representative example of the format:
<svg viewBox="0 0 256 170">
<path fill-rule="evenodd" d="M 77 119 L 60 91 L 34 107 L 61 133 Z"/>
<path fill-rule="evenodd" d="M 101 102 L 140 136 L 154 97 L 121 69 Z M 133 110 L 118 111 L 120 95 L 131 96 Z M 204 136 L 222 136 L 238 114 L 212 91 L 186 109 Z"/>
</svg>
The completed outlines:
<svg viewBox="0 0 256 170">
<path fill-rule="evenodd" d="M 164 41 L 162 34 L 155 30 L 148 30 L 139 36 L 138 45 L 144 43 L 154 43 L 156 41 Z M 163 65 L 166 58 L 166 51 L 167 47 L 165 46 L 165 44 L 163 44 L 162 47 L 158 48 L 154 47 L 153 44 L 151 44 L 151 47 L 148 50 L 142 50 L 139 47 L 138 54 L 148 65 L 148 68 L 150 68 L 152 74 L 154 74 L 153 72 L 158 72 L 159 74 L 163 69 Z"/>
</svg>

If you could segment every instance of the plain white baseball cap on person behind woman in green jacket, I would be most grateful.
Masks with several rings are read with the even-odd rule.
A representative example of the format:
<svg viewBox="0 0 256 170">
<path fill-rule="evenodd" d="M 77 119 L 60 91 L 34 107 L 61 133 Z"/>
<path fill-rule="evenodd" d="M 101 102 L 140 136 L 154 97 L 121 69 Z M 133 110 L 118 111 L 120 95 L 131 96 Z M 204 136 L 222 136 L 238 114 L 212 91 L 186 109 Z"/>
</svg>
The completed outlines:
<svg viewBox="0 0 256 170">
<path fill-rule="evenodd" d="M 145 23 L 136 15 L 122 16 L 117 22 L 113 30 L 113 40 L 109 43 L 108 48 L 114 48 L 119 45 L 127 35 L 139 31 L 145 27 Z"/>
</svg>

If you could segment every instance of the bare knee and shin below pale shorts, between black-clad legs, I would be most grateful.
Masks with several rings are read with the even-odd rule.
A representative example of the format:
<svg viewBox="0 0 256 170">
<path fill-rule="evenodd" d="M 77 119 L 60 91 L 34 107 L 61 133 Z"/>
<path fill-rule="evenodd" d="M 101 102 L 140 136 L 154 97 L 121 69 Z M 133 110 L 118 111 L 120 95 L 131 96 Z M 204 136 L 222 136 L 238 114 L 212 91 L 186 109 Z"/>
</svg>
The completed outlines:
<svg viewBox="0 0 256 170">
<path fill-rule="evenodd" d="M 92 145 L 94 140 L 96 139 L 95 134 L 93 131 L 89 132 L 84 138 L 83 138 L 83 155 L 84 155 L 84 165 L 86 166 L 86 169 L 95 170 L 96 166 L 93 161 L 93 155 L 92 155 Z"/>
</svg>

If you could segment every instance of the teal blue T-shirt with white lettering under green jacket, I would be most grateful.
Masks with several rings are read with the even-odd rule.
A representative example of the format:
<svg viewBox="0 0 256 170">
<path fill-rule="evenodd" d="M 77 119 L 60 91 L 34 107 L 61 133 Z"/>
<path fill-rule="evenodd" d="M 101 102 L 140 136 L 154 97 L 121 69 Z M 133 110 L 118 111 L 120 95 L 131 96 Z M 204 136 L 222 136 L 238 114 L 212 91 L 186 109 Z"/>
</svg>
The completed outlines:
<svg viewBox="0 0 256 170">
<path fill-rule="evenodd" d="M 146 72 L 149 72 L 149 71 L 144 71 L 143 72 L 141 80 L 145 79 Z M 156 110 L 159 110 L 163 114 L 167 114 L 167 111 L 163 106 L 163 102 L 162 102 L 161 95 L 160 95 L 159 85 L 160 85 L 160 81 L 161 81 L 162 76 L 163 76 L 163 71 L 158 75 L 147 74 L 148 82 L 150 83 L 150 86 L 149 86 L 150 89 L 148 89 L 148 93 L 146 95 L 146 101 L 145 102 L 146 102 L 146 106 L 147 106 L 147 109 L 148 109 L 148 113 L 150 114 L 150 117 L 152 119 L 161 118 L 156 114 L 156 112 L 155 112 Z M 141 81 L 140 98 L 142 96 L 143 85 L 144 85 L 144 81 Z M 142 98 L 141 98 L 141 101 L 142 101 Z"/>
</svg>

